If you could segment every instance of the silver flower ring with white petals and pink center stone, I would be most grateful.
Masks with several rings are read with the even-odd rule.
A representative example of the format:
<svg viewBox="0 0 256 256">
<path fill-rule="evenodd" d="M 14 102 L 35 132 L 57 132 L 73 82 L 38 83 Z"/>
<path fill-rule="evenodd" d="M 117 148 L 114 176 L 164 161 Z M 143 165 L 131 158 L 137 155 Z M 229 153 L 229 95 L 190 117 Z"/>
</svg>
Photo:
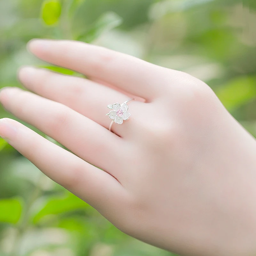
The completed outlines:
<svg viewBox="0 0 256 256">
<path fill-rule="evenodd" d="M 111 131 L 111 127 L 114 123 L 116 124 L 123 124 L 124 120 L 128 120 L 131 114 L 128 112 L 128 105 L 130 101 L 134 99 L 126 100 L 123 104 L 115 103 L 113 105 L 108 105 L 107 107 L 109 109 L 112 109 L 109 111 L 106 116 L 109 116 L 110 119 L 113 119 L 112 122 L 109 125 L 108 130 Z"/>
</svg>

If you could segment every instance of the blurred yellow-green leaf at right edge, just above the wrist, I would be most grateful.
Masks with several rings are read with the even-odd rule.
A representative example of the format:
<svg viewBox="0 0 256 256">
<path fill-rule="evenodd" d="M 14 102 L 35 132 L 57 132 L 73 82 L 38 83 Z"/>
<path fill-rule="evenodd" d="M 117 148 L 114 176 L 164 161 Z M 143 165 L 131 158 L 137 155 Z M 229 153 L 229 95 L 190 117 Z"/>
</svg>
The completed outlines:
<svg viewBox="0 0 256 256">
<path fill-rule="evenodd" d="M 228 110 L 233 110 L 256 98 L 256 77 L 245 76 L 231 80 L 216 91 Z"/>
</svg>

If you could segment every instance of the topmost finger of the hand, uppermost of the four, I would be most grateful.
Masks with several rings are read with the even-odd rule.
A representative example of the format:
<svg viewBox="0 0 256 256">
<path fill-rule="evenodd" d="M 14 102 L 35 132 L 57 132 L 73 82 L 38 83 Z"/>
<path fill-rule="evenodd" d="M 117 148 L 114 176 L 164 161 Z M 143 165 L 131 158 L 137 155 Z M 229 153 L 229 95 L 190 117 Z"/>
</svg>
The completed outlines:
<svg viewBox="0 0 256 256">
<path fill-rule="evenodd" d="M 34 39 L 28 48 L 42 60 L 100 79 L 148 101 L 159 94 L 164 69 L 135 57 L 69 40 Z"/>
</svg>

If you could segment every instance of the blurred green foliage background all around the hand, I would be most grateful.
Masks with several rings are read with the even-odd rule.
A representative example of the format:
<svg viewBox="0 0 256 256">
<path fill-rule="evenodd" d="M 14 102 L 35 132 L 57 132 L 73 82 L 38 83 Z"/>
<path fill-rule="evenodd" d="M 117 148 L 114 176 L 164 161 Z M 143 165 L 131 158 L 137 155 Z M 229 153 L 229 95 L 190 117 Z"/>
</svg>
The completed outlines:
<svg viewBox="0 0 256 256">
<path fill-rule="evenodd" d="M 21 87 L 22 65 L 79 75 L 28 53 L 35 37 L 99 44 L 188 72 L 256 135 L 255 0 L 0 0 L 1 88 Z M 0 117 L 13 118 L 2 107 Z M 0 139 L 0 256 L 19 255 L 173 254 L 124 235 Z"/>
</svg>

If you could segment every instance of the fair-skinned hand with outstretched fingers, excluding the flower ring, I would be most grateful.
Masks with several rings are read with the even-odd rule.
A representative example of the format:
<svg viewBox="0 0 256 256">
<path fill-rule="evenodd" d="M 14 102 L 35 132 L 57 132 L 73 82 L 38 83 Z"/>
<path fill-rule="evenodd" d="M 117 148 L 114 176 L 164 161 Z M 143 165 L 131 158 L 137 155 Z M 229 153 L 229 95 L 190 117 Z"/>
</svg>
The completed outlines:
<svg viewBox="0 0 256 256">
<path fill-rule="evenodd" d="M 3 118 L 14 148 L 142 241 L 186 256 L 256 254 L 256 141 L 206 84 L 81 42 L 28 49 L 90 80 L 21 68 L 31 92 L 4 88 L 4 108 L 74 154 Z M 131 95 L 130 119 L 108 131 L 106 106 Z"/>
</svg>

